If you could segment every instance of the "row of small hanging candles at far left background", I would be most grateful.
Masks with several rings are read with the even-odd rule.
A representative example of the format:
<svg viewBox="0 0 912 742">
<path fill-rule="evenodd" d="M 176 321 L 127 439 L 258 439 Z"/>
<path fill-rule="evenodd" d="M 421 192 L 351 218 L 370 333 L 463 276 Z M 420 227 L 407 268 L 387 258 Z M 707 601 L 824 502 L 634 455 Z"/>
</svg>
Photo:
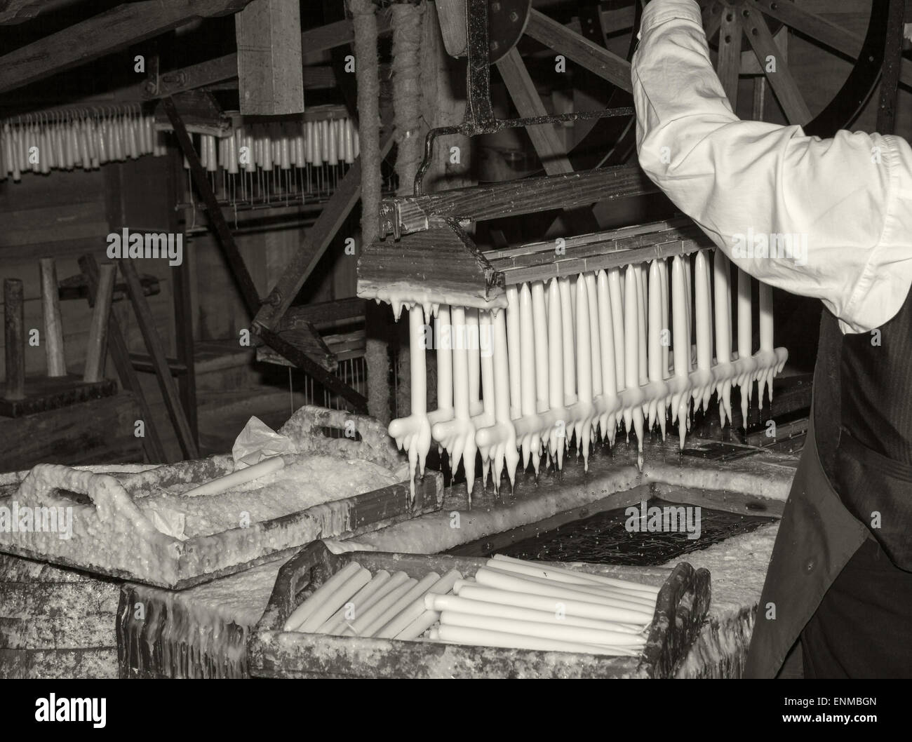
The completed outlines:
<svg viewBox="0 0 912 742">
<path fill-rule="evenodd" d="M 40 115 L 39 115 L 40 116 Z M 166 153 L 154 117 L 139 112 L 67 119 L 6 119 L 0 126 L 0 180 L 24 172 L 97 170 L 106 162 Z"/>
</svg>

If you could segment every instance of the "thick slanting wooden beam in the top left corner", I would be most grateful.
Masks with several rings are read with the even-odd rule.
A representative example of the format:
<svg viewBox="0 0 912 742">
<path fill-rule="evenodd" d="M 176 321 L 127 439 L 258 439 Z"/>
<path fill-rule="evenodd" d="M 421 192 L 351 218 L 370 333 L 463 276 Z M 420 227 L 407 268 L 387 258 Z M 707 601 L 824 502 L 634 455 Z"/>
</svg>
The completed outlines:
<svg viewBox="0 0 912 742">
<path fill-rule="evenodd" d="M 0 57 L 0 93 L 159 36 L 195 18 L 236 13 L 249 2 L 143 0 L 118 5 Z"/>
</svg>

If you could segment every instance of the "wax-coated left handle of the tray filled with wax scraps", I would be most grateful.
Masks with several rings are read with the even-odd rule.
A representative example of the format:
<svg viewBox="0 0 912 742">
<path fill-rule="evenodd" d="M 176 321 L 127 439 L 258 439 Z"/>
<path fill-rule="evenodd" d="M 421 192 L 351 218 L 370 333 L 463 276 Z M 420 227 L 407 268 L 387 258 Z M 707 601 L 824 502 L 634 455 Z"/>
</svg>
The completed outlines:
<svg viewBox="0 0 912 742">
<path fill-rule="evenodd" d="M 109 474 L 72 469 L 60 464 L 37 464 L 19 486 L 17 497 L 42 505 L 57 505 L 54 490 L 68 490 L 87 495 L 95 506 L 98 520 L 111 522 L 115 517 L 130 522 L 143 535 L 161 535 L 142 514 L 123 485 Z"/>
</svg>

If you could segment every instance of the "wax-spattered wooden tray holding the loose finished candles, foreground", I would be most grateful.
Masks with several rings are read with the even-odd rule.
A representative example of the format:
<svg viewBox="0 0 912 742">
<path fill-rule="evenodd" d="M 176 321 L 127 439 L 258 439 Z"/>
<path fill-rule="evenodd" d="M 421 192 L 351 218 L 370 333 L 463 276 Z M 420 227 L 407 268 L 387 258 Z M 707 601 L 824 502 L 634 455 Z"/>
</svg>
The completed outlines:
<svg viewBox="0 0 912 742">
<path fill-rule="evenodd" d="M 307 595 L 348 562 L 376 572 L 406 572 L 420 579 L 452 569 L 471 576 L 486 560 L 444 555 L 356 551 L 333 554 L 316 541 L 287 562 L 248 644 L 254 677 L 670 677 L 687 654 L 710 607 L 710 573 L 680 562 L 658 593 L 644 654 L 597 654 L 440 644 L 285 632 L 283 626 Z M 544 564 L 544 562 L 543 562 Z M 635 568 L 608 568 L 615 576 Z M 605 572 L 599 565 L 586 571 Z"/>
</svg>

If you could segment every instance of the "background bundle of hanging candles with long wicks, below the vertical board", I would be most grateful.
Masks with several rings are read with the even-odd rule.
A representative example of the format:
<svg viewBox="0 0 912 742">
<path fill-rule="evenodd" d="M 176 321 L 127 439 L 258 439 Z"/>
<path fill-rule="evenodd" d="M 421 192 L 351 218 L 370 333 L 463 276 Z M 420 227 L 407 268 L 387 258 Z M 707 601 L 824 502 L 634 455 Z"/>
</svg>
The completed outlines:
<svg viewBox="0 0 912 742">
<path fill-rule="evenodd" d="M 213 190 L 231 201 L 268 200 L 332 191 L 360 152 L 351 119 L 308 116 L 281 122 L 244 121 L 231 136 L 196 137 Z M 190 164 L 184 159 L 184 167 Z"/>
</svg>

